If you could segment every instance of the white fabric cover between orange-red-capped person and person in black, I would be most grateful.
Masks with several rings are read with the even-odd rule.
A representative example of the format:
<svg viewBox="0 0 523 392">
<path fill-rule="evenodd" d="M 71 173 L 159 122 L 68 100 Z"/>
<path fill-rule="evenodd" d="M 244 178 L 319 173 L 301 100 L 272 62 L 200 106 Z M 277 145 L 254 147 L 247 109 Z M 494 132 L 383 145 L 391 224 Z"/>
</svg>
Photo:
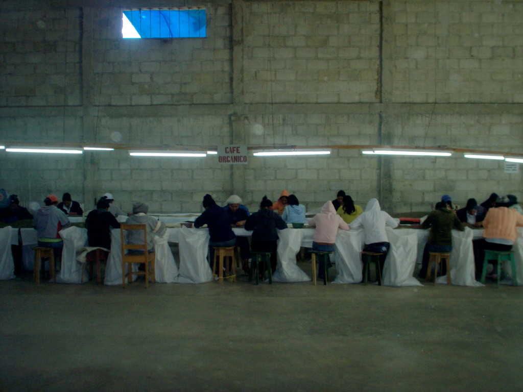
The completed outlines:
<svg viewBox="0 0 523 392">
<path fill-rule="evenodd" d="M 56 283 L 84 283 L 89 280 L 87 273 L 84 273 L 82 282 L 82 270 L 85 264 L 76 261 L 76 251 L 85 247 L 87 242 L 87 229 L 76 226 L 67 227 L 60 230 L 64 247 L 62 249 L 62 267 L 56 274 Z M 52 280 L 51 280 L 52 282 Z"/>
</svg>

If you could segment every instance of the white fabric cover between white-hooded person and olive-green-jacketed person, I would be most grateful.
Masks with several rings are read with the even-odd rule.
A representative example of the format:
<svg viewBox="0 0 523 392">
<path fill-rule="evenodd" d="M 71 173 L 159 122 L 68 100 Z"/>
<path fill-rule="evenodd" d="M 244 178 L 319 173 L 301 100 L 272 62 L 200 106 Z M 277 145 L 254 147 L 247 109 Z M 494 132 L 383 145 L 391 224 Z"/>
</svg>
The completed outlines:
<svg viewBox="0 0 523 392">
<path fill-rule="evenodd" d="M 391 247 L 383 266 L 381 284 L 385 286 L 423 286 L 414 278 L 418 239 L 412 229 L 386 228 Z"/>
</svg>

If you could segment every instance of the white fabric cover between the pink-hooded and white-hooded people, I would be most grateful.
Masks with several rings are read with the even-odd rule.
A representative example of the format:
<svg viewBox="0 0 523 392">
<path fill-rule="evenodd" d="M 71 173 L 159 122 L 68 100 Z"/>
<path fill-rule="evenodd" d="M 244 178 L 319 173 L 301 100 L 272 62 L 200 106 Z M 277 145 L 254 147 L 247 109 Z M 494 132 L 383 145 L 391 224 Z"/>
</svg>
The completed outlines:
<svg viewBox="0 0 523 392">
<path fill-rule="evenodd" d="M 333 283 L 359 283 L 363 276 L 361 264 L 361 249 L 365 245 L 363 229 L 340 230 L 336 237 L 334 262 L 338 275 Z"/>
</svg>

